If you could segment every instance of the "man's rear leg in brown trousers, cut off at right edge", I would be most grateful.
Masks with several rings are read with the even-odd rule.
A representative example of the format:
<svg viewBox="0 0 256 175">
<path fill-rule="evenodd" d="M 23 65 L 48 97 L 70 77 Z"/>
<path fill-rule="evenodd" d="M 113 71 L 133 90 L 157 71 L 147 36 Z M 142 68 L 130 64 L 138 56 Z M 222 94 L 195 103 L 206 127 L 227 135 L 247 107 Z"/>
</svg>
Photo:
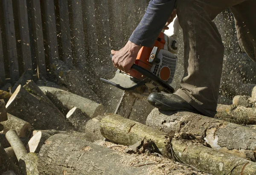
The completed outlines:
<svg viewBox="0 0 256 175">
<path fill-rule="evenodd" d="M 241 48 L 256 61 L 256 0 L 248 0 L 231 7 Z"/>
</svg>

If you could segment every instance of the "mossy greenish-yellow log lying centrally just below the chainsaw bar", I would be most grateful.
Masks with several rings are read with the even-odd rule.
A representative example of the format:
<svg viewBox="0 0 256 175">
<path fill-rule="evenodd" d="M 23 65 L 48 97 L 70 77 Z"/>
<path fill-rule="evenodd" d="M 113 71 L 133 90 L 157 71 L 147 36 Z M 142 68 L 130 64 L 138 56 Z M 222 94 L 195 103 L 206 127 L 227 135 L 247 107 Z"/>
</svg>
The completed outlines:
<svg viewBox="0 0 256 175">
<path fill-rule="evenodd" d="M 112 133 L 110 133 L 112 130 Z M 100 122 L 100 132 L 105 138 L 123 145 L 133 145 L 143 138 L 151 139 L 156 145 L 156 149 L 162 155 L 170 157 L 169 136 L 161 131 L 147 127 L 136 121 L 125 119 L 119 115 L 105 116 Z M 126 133 L 120 136 L 119 133 Z"/>
</svg>

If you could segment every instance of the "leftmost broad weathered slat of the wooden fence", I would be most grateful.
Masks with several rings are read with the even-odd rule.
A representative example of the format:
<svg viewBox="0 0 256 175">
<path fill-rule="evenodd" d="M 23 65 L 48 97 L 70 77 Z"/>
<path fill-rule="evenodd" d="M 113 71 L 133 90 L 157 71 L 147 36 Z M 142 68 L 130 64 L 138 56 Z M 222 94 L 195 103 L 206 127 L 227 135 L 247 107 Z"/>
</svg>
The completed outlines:
<svg viewBox="0 0 256 175">
<path fill-rule="evenodd" d="M 16 37 L 12 1 L 3 0 L 3 14 L 6 26 L 6 46 L 10 66 L 11 82 L 14 84 L 19 79 L 19 67 L 17 59 Z"/>
</svg>

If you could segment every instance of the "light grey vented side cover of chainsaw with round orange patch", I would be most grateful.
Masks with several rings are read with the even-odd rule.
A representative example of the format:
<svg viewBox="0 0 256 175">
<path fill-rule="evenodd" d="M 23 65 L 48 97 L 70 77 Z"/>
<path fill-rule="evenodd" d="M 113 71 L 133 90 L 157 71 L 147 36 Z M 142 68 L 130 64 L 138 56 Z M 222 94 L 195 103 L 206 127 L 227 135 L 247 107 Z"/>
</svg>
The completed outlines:
<svg viewBox="0 0 256 175">
<path fill-rule="evenodd" d="M 157 58 L 160 62 L 158 64 L 153 64 L 150 72 L 165 81 L 167 84 L 171 84 L 175 75 L 177 56 L 168 50 L 160 49 L 157 54 Z M 150 81 L 146 83 L 146 86 L 153 89 L 160 85 L 156 82 Z"/>
</svg>

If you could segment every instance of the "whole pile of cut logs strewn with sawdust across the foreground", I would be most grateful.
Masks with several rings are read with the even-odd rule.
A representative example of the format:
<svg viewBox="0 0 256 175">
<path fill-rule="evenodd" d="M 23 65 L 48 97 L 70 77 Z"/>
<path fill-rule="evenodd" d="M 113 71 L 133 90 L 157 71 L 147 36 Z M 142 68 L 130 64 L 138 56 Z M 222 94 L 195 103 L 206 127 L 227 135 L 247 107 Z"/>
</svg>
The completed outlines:
<svg viewBox="0 0 256 175">
<path fill-rule="evenodd" d="M 28 81 L 0 100 L 0 173 L 256 174 L 255 102 L 256 88 L 219 105 L 215 118 L 153 109 L 131 120 Z"/>
</svg>

